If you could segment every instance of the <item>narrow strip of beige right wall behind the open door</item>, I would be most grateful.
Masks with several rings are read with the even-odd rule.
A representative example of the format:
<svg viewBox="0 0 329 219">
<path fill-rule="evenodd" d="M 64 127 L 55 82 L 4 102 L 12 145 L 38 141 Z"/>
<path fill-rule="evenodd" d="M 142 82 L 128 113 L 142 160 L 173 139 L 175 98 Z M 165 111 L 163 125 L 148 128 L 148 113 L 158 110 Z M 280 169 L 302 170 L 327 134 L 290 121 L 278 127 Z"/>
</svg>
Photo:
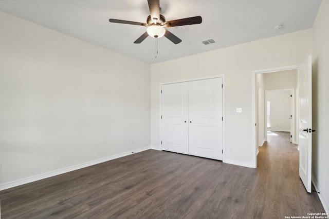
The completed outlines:
<svg viewBox="0 0 329 219">
<path fill-rule="evenodd" d="M 329 213 L 329 1 L 322 0 L 313 26 L 313 183 Z"/>
</svg>

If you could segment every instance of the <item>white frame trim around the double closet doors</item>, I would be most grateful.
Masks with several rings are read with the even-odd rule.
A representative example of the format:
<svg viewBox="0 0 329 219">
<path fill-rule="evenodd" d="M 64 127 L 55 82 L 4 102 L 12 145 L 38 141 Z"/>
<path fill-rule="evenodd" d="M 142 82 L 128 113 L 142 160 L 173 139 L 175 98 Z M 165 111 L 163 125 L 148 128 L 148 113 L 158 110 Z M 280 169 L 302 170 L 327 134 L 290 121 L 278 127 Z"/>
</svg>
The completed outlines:
<svg viewBox="0 0 329 219">
<path fill-rule="evenodd" d="M 223 135 L 223 161 L 225 163 L 225 74 L 218 74 L 218 75 L 213 75 L 213 76 L 207 76 L 207 77 L 197 77 L 197 78 L 188 78 L 188 79 L 181 79 L 181 80 L 178 80 L 178 81 L 172 81 L 172 82 L 165 82 L 165 83 L 160 83 L 159 85 L 159 99 L 160 99 L 160 117 L 159 117 L 159 120 L 160 120 L 160 127 L 159 127 L 159 136 L 160 136 L 160 142 L 159 142 L 159 145 L 160 145 L 160 148 L 161 148 L 161 151 L 163 151 L 163 147 L 162 147 L 162 144 L 161 144 L 161 141 L 162 141 L 162 136 L 161 136 L 161 133 L 162 133 L 162 130 L 161 130 L 161 127 L 162 127 L 162 124 L 161 124 L 161 115 L 162 115 L 162 112 L 161 112 L 161 109 L 162 109 L 162 106 L 161 106 L 161 103 L 162 103 L 162 99 L 161 99 L 161 87 L 162 85 L 167 85 L 167 84 L 175 84 L 175 83 L 182 83 L 182 82 L 192 82 L 192 81 L 200 81 L 200 80 L 206 80 L 206 79 L 212 79 L 212 78 L 218 78 L 218 77 L 222 77 L 223 79 L 223 104 L 222 104 L 222 113 L 223 113 L 223 131 L 222 131 L 222 135 Z"/>
</svg>

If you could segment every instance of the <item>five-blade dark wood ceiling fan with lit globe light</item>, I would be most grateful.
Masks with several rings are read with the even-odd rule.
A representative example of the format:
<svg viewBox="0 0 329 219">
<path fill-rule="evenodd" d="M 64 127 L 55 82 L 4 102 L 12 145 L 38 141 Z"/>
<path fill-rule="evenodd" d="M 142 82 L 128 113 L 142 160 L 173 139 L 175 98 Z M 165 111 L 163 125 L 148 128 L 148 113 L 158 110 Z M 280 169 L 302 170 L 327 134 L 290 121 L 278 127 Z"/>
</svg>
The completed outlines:
<svg viewBox="0 0 329 219">
<path fill-rule="evenodd" d="M 134 42 L 135 44 L 140 44 L 148 36 L 154 38 L 160 38 L 162 36 L 165 36 L 174 44 L 179 44 L 181 42 L 181 39 L 173 33 L 169 32 L 169 30 L 167 30 L 166 28 L 202 23 L 202 17 L 200 16 L 187 17 L 167 22 L 165 16 L 160 14 L 160 0 L 148 0 L 148 4 L 150 9 L 150 15 L 147 18 L 146 24 L 112 18 L 109 19 L 109 22 L 148 27 L 147 31 L 143 33 L 138 39 L 136 39 L 136 41 Z"/>
</svg>

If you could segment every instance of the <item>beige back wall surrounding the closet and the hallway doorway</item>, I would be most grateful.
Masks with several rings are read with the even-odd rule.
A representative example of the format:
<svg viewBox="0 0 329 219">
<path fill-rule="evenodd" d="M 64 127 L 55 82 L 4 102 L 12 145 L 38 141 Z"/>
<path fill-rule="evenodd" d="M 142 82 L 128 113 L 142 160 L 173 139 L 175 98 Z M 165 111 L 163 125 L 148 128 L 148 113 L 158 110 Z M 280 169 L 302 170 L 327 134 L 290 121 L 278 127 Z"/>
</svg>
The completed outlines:
<svg viewBox="0 0 329 219">
<path fill-rule="evenodd" d="M 312 30 L 197 54 L 151 66 L 151 146 L 160 149 L 160 84 L 225 74 L 226 162 L 252 166 L 252 70 L 298 65 L 312 53 Z M 235 113 L 242 107 L 243 113 Z"/>
</svg>

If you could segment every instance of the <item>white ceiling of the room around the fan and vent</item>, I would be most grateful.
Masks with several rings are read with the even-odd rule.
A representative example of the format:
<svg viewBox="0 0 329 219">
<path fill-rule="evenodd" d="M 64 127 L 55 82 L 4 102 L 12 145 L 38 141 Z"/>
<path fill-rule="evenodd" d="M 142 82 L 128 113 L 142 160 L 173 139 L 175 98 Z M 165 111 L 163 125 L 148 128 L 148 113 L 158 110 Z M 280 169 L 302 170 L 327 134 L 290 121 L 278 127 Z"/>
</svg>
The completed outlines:
<svg viewBox="0 0 329 219">
<path fill-rule="evenodd" d="M 321 0 L 160 0 L 167 21 L 200 15 L 202 24 L 172 27 L 182 39 L 133 42 L 146 27 L 109 23 L 109 18 L 146 23 L 147 0 L 0 0 L 0 10 L 150 64 L 311 28 Z M 273 30 L 282 25 L 283 29 Z M 1 31 L 1 30 L 0 30 Z M 23 36 L 22 36 L 23 37 Z M 216 43 L 201 42 L 213 38 Z"/>
</svg>

